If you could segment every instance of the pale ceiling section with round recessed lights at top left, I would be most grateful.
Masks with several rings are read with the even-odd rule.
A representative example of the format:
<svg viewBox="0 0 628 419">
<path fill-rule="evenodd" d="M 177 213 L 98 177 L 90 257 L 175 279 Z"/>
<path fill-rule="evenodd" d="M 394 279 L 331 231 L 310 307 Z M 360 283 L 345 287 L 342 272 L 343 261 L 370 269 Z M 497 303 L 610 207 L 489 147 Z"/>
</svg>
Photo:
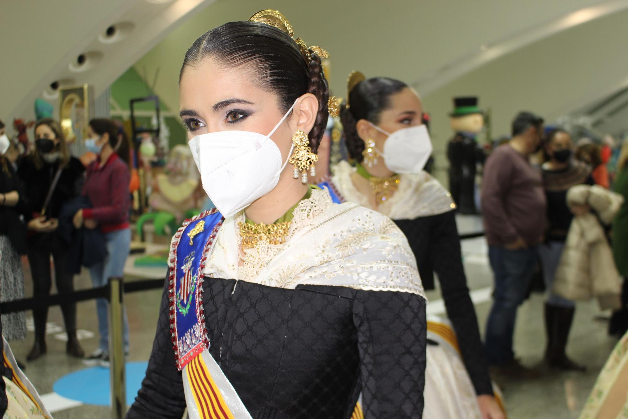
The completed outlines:
<svg viewBox="0 0 628 419">
<path fill-rule="evenodd" d="M 89 83 L 99 94 L 177 24 L 211 0 L 3 1 L 0 119 L 32 118 L 36 98 L 60 85 Z M 117 25 L 117 33 L 104 33 Z M 83 65 L 77 57 L 84 54 Z"/>
</svg>

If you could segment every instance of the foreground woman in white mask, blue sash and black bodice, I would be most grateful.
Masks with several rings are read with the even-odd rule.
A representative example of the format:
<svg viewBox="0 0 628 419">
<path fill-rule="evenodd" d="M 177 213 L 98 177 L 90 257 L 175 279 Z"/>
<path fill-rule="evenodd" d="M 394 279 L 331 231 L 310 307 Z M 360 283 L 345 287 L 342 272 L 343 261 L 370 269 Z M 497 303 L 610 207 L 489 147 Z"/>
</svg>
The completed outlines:
<svg viewBox="0 0 628 419">
<path fill-rule="evenodd" d="M 186 406 L 190 418 L 422 414 L 426 300 L 414 258 L 391 220 L 308 185 L 328 55 L 292 35 L 266 10 L 185 55 L 180 115 L 217 210 L 173 238 L 127 419 L 180 418 Z"/>
</svg>

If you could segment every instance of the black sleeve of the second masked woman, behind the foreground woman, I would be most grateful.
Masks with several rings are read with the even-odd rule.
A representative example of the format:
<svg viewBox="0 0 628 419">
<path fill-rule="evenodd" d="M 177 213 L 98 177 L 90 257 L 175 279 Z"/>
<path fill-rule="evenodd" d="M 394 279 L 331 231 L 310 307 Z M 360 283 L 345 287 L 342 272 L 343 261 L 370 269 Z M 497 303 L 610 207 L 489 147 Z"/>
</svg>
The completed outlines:
<svg viewBox="0 0 628 419">
<path fill-rule="evenodd" d="M 484 345 L 480 340 L 477 316 L 462 265 L 460 238 L 453 211 L 429 217 L 430 260 L 438 275 L 447 315 L 458 337 L 462 359 L 475 392 L 493 394 Z"/>
</svg>

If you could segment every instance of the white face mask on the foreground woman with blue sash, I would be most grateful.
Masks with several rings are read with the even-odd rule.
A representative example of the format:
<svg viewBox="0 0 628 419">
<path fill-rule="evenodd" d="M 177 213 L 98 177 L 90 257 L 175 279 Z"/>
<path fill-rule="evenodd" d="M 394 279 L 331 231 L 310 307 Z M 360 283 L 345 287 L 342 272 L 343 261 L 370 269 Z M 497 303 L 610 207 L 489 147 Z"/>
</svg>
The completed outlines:
<svg viewBox="0 0 628 419">
<path fill-rule="evenodd" d="M 282 165 L 281 152 L 270 137 L 295 104 L 296 101 L 268 135 L 218 131 L 197 135 L 188 142 L 203 189 L 225 218 L 244 210 L 277 186 L 288 159 Z M 292 148 L 288 158 L 291 153 Z"/>
</svg>

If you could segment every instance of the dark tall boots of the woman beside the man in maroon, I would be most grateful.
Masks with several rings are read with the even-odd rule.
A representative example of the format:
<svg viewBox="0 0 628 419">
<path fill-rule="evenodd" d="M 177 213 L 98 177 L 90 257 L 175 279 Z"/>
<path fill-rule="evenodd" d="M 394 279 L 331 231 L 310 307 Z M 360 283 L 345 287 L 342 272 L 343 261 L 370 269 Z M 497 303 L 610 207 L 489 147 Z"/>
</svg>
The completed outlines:
<svg viewBox="0 0 628 419">
<path fill-rule="evenodd" d="M 573 307 L 559 307 L 545 304 L 545 321 L 548 332 L 548 347 L 545 361 L 549 367 L 571 371 L 587 371 L 567 357 L 565 348 L 573 323 Z"/>
</svg>

